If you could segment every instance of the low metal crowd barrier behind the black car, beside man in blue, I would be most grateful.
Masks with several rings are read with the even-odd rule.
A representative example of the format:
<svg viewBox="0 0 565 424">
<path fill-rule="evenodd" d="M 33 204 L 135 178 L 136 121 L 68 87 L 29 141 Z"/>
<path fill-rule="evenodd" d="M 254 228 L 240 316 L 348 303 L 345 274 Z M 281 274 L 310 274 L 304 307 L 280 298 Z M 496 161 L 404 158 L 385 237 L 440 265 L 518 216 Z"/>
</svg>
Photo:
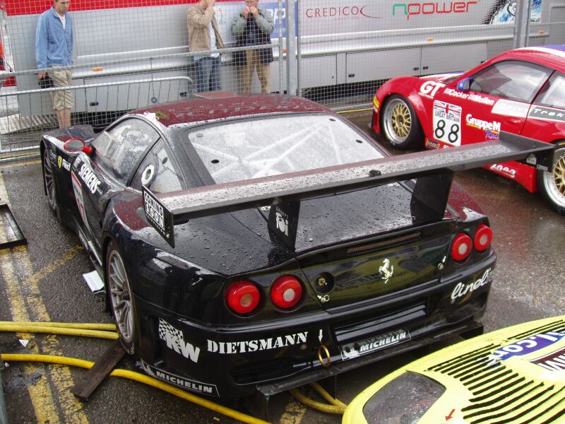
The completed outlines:
<svg viewBox="0 0 565 424">
<path fill-rule="evenodd" d="M 4 88 L 0 90 L 0 111 L 5 111 L 5 116 L 0 117 L 0 160 L 26 158 L 39 153 L 41 134 L 58 126 L 51 93 L 73 92 L 76 108 L 84 111 L 72 114 L 73 125 L 88 123 L 102 128 L 129 110 L 184 98 L 189 95 L 191 85 L 191 78 L 173 76 L 68 88 L 25 91 Z M 88 98 L 95 100 L 89 101 Z M 40 107 L 39 114 L 30 117 L 22 112 L 32 107 Z"/>
</svg>

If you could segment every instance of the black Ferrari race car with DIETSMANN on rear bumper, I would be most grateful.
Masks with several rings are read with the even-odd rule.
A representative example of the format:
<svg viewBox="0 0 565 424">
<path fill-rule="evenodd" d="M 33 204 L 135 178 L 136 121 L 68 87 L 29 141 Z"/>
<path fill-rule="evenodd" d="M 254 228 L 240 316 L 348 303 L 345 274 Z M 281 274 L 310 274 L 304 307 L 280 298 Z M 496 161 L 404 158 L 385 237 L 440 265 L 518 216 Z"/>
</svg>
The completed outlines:
<svg viewBox="0 0 565 424">
<path fill-rule="evenodd" d="M 480 331 L 492 230 L 450 194 L 453 172 L 526 157 L 547 169 L 552 146 L 503 134 L 390 157 L 314 102 L 213 97 L 42 138 L 49 206 L 148 374 L 268 395 Z"/>
</svg>

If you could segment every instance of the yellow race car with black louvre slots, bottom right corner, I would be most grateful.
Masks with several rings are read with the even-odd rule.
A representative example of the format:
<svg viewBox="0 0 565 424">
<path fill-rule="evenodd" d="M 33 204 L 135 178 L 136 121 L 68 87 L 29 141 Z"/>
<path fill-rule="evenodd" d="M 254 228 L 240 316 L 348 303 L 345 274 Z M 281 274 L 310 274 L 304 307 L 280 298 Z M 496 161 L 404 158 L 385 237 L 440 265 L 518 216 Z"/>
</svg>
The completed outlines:
<svg viewBox="0 0 565 424">
<path fill-rule="evenodd" d="M 343 424 L 565 423 L 565 315 L 415 360 L 362 391 Z"/>
</svg>

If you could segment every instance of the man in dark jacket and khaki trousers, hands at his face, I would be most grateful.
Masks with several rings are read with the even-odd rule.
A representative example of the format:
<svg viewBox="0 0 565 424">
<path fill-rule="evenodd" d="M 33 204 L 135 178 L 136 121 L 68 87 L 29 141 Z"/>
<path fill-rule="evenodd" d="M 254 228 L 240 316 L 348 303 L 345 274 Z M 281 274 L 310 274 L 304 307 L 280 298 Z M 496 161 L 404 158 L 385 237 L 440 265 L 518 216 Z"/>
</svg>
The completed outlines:
<svg viewBox="0 0 565 424">
<path fill-rule="evenodd" d="M 275 25 L 270 12 L 258 5 L 258 0 L 245 0 L 245 8 L 232 22 L 232 35 L 237 47 L 270 45 L 270 34 Z M 270 62 L 273 61 L 273 48 L 246 50 L 234 53 L 234 62 L 240 66 L 243 93 L 249 93 L 253 70 L 256 69 L 261 93 L 268 93 Z"/>
</svg>

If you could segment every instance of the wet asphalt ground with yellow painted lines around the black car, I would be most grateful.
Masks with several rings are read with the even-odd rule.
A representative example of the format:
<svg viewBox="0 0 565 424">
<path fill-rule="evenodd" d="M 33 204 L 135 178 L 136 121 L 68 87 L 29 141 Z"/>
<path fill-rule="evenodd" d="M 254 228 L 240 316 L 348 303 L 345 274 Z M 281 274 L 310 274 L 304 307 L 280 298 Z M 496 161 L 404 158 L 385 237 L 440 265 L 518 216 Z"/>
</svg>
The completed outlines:
<svg viewBox="0 0 565 424">
<path fill-rule="evenodd" d="M 347 115 L 346 115 L 347 116 Z M 367 129 L 370 112 L 349 114 Z M 374 136 L 376 138 L 376 136 Z M 379 139 L 379 142 L 383 143 Z M 391 150 L 386 143 L 386 148 Z M 401 152 L 395 152 L 401 153 Z M 539 194 L 484 170 L 456 175 L 491 220 L 498 263 L 487 313 L 487 331 L 565 313 L 565 217 Z M 5 189 L 5 192 L 4 192 Z M 73 232 L 57 223 L 43 194 L 39 161 L 0 167 L 0 203 L 9 200 L 27 247 L 0 250 L 0 320 L 112 322 L 102 295 L 93 295 L 82 274 L 93 270 Z M 19 338 L 29 339 L 24 348 Z M 70 336 L 0 334 L 1 353 L 46 353 L 96 360 L 109 341 Z M 346 404 L 375 379 L 422 355 L 400 355 L 338 377 L 338 399 Z M 84 370 L 10 363 L 2 379 L 10 423 L 235 423 L 157 389 L 109 377 L 89 401 L 70 392 Z M 132 358 L 119 367 L 137 370 Z M 316 400 L 316 396 L 307 391 Z M 242 412 L 246 406 L 227 403 Z M 287 393 L 270 399 L 270 421 L 281 424 L 340 423 L 340 416 L 314 411 Z"/>
</svg>

